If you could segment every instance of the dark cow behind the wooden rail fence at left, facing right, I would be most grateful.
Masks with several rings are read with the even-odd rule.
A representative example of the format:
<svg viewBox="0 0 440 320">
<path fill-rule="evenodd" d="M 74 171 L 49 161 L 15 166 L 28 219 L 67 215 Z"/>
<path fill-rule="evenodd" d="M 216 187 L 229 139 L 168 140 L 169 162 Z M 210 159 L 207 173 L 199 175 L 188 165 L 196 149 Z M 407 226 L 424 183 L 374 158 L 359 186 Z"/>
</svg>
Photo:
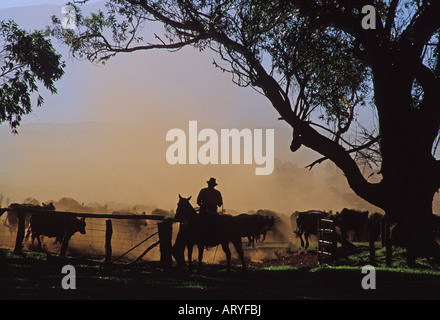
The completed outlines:
<svg viewBox="0 0 440 320">
<path fill-rule="evenodd" d="M 38 248 L 43 251 L 40 236 L 55 237 L 55 243 L 61 243 L 60 255 L 64 257 L 69 240 L 76 232 L 86 234 L 85 218 L 78 219 L 69 213 L 38 212 L 31 216 L 26 240 L 32 234 L 32 243 L 37 238 Z"/>
</svg>

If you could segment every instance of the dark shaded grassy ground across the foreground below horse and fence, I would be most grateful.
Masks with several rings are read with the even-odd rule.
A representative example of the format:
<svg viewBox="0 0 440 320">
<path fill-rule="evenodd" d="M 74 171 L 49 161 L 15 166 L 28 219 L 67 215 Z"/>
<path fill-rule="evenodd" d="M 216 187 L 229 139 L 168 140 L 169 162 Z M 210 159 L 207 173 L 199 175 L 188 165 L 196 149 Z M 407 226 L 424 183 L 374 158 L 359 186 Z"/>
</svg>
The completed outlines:
<svg viewBox="0 0 440 320">
<path fill-rule="evenodd" d="M 0 250 L 1 299 L 439 299 L 440 271 L 422 260 L 416 269 L 401 265 L 403 252 L 395 251 L 394 267 L 382 265 L 377 250 L 377 289 L 361 287 L 361 267 L 368 252 L 336 261 L 334 266 L 273 266 L 243 273 L 225 266 L 206 265 L 202 273 L 162 270 L 159 262 L 104 265 L 102 260 L 41 253 L 22 256 Z M 61 268 L 76 269 L 76 290 L 63 290 Z"/>
</svg>

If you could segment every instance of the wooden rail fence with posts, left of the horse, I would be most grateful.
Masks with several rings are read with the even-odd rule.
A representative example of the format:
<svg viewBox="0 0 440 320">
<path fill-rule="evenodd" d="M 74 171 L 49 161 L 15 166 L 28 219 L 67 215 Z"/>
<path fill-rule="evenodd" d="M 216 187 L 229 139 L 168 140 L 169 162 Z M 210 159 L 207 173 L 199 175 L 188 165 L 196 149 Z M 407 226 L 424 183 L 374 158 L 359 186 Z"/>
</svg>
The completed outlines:
<svg viewBox="0 0 440 320">
<path fill-rule="evenodd" d="M 33 208 L 0 208 L 0 217 L 6 212 L 15 212 L 17 214 L 17 231 L 15 238 L 15 246 L 14 253 L 19 254 L 23 249 L 23 240 L 25 236 L 26 229 L 26 216 L 42 214 L 42 213 L 52 213 L 59 215 L 68 215 L 73 218 L 88 218 L 88 219 L 105 219 L 105 241 L 104 241 L 104 250 L 105 250 L 105 263 L 111 263 L 112 261 L 116 261 L 121 259 L 127 253 L 131 252 L 133 249 L 139 247 L 141 244 L 145 243 L 147 240 L 150 240 L 153 236 L 157 235 L 158 240 L 151 244 L 142 254 L 133 261 L 133 263 L 141 260 L 150 250 L 157 247 L 159 245 L 160 249 L 160 261 L 163 266 L 168 267 L 172 264 L 172 218 L 165 218 L 160 215 L 147 215 L 147 214 L 99 214 L 99 213 L 79 213 L 79 212 L 64 212 L 64 211 L 47 211 L 47 210 L 39 210 Z M 114 235 L 113 221 L 139 221 L 139 220 L 152 220 L 157 221 L 157 232 L 149 235 L 142 242 L 136 244 L 130 250 L 124 252 L 122 255 L 119 255 L 117 258 L 113 258 L 113 248 L 112 248 L 112 238 Z M 86 224 L 87 225 L 87 224 Z M 87 229 L 87 227 L 86 227 Z M 87 231 L 87 230 L 86 230 Z M 66 239 L 65 239 L 66 240 Z M 61 244 L 61 254 L 64 254 L 67 250 L 68 243 L 70 239 L 67 241 L 63 241 Z"/>
</svg>

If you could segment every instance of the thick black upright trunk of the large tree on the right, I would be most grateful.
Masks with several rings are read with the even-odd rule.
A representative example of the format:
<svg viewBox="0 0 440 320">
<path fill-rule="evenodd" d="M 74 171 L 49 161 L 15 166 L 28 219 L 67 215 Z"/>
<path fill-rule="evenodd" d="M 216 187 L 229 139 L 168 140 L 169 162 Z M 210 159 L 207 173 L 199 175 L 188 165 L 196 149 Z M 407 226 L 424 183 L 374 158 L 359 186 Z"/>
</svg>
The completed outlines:
<svg viewBox="0 0 440 320">
<path fill-rule="evenodd" d="M 414 265 L 417 256 L 439 255 L 432 201 L 440 179 L 438 163 L 431 154 L 438 123 L 430 112 L 437 104 L 425 91 L 423 103 L 413 105 L 414 79 L 414 69 L 396 53 L 382 55 L 373 68 L 383 176 L 379 202 L 396 223 L 392 238 L 406 247 L 409 265 Z"/>
</svg>

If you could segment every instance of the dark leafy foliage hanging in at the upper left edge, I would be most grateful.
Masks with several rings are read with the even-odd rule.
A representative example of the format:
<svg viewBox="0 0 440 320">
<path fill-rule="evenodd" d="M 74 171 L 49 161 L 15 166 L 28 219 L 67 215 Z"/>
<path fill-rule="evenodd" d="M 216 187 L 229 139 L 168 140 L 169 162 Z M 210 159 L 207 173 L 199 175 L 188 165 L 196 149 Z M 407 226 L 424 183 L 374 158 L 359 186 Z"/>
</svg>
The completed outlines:
<svg viewBox="0 0 440 320">
<path fill-rule="evenodd" d="M 13 21 L 0 21 L 0 123 L 9 122 L 17 133 L 21 117 L 43 104 L 38 93 L 41 82 L 56 93 L 55 81 L 61 78 L 64 63 L 42 31 L 29 33 Z"/>
</svg>

